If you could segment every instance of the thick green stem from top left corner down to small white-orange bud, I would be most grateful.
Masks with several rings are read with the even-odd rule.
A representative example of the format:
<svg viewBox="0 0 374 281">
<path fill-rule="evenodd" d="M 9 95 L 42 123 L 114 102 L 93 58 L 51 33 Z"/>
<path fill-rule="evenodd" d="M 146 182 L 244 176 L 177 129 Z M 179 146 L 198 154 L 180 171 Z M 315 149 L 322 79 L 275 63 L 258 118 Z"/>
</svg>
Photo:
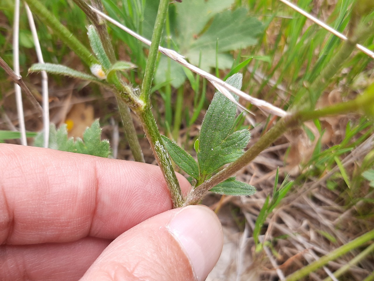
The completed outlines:
<svg viewBox="0 0 374 281">
<path fill-rule="evenodd" d="M 71 33 L 64 25 L 62 25 L 53 16 L 49 10 L 43 6 L 38 0 L 25 0 L 30 9 L 38 16 L 43 24 L 52 28 L 53 32 L 60 37 L 60 39 L 72 49 L 78 57 L 82 59 L 88 66 L 98 64 L 99 62 L 91 54 L 91 52 Z"/>
</svg>

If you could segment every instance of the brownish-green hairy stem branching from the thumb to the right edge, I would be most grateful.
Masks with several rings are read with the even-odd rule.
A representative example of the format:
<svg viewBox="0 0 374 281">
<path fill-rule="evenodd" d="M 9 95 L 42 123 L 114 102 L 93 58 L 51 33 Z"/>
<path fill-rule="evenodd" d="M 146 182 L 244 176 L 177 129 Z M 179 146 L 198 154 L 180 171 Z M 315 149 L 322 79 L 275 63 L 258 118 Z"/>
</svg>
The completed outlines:
<svg viewBox="0 0 374 281">
<path fill-rule="evenodd" d="M 197 204 L 202 196 L 215 185 L 233 176 L 237 171 L 245 167 L 258 154 L 268 148 L 276 139 L 287 130 L 300 126 L 302 123 L 318 119 L 328 115 L 346 114 L 363 110 L 367 114 L 374 115 L 374 84 L 365 90 L 362 96 L 349 102 L 338 103 L 319 110 L 303 110 L 281 118 L 272 129 L 265 133 L 254 145 L 252 145 L 241 157 L 229 166 L 198 185 L 188 196 L 184 205 Z"/>
</svg>

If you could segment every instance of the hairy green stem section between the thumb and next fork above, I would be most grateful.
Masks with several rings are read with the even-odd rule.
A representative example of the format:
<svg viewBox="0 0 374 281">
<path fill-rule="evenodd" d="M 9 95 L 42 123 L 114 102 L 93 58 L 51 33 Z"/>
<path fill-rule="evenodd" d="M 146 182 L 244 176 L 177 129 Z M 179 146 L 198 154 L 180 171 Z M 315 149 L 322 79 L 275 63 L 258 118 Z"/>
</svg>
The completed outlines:
<svg viewBox="0 0 374 281">
<path fill-rule="evenodd" d="M 168 185 L 171 193 L 173 206 L 174 208 L 179 208 L 183 205 L 182 191 L 171 164 L 168 151 L 166 150 L 161 139 L 161 135 L 157 128 L 156 120 L 154 120 L 150 106 L 145 106 L 142 110 L 137 112 L 137 115 L 143 124 L 143 129 L 153 150 L 154 157 L 156 158 L 156 161 L 165 177 L 166 184 Z"/>
</svg>

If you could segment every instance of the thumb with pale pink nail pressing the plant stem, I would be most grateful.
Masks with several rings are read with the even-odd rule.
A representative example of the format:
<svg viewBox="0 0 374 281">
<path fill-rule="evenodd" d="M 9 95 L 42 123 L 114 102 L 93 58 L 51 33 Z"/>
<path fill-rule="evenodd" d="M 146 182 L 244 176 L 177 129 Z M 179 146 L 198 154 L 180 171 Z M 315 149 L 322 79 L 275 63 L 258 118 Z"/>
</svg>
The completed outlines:
<svg viewBox="0 0 374 281">
<path fill-rule="evenodd" d="M 81 281 L 205 280 L 223 246 L 220 221 L 205 206 L 174 209 L 114 240 Z"/>
</svg>

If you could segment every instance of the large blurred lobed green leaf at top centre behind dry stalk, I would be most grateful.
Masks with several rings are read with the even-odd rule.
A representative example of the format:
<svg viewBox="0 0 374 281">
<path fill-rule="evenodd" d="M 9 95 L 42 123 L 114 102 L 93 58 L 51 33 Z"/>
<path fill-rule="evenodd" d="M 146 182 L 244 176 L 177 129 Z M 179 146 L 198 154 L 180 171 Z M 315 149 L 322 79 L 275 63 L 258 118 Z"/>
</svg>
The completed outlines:
<svg viewBox="0 0 374 281">
<path fill-rule="evenodd" d="M 156 6 L 158 1 L 148 0 L 147 5 L 150 2 Z M 174 49 L 203 70 L 209 71 L 217 63 L 220 69 L 230 69 L 233 57 L 227 52 L 256 44 L 258 35 L 264 30 L 264 25 L 257 18 L 248 16 L 245 8 L 233 12 L 229 10 L 233 3 L 233 0 L 188 0 L 175 5 L 175 13 L 169 11 Z M 144 27 L 145 30 L 153 27 L 152 18 L 156 15 L 157 7 L 149 11 L 146 9 L 146 12 L 145 21 L 149 21 L 149 27 Z M 151 36 L 148 31 L 147 34 Z M 167 76 L 168 65 L 166 59 L 159 61 L 155 82 L 162 84 L 171 80 L 173 87 L 178 88 L 186 79 L 183 67 L 171 62 Z"/>
</svg>

